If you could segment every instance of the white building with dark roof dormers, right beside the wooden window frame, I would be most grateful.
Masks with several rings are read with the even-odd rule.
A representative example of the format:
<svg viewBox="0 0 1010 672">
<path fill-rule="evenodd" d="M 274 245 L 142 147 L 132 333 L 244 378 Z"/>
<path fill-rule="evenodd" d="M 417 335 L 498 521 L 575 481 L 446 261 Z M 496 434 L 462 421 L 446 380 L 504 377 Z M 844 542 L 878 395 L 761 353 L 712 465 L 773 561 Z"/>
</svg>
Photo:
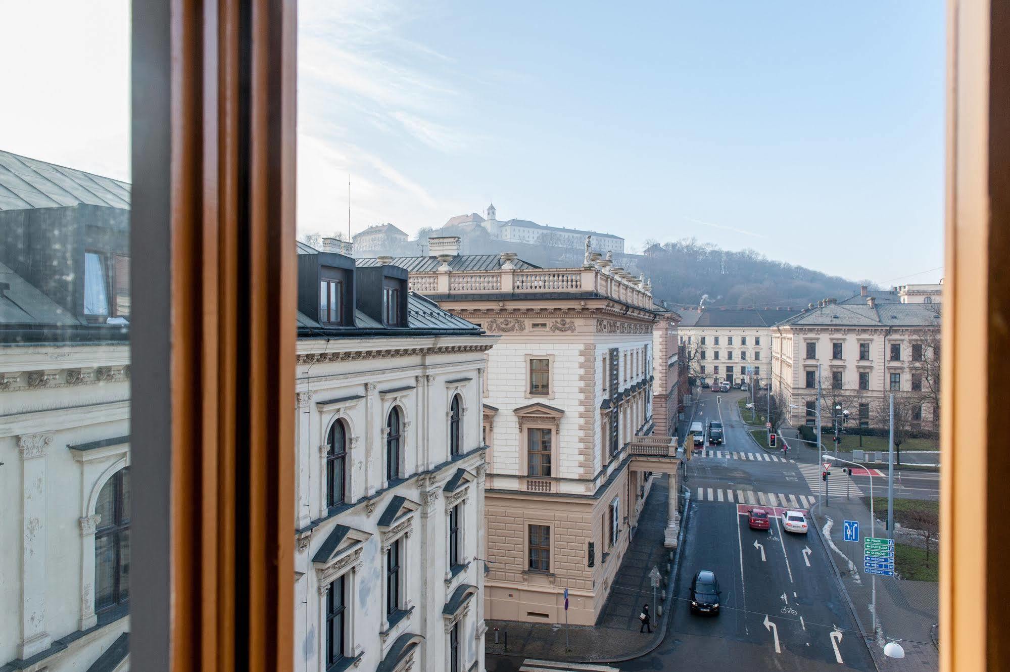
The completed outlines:
<svg viewBox="0 0 1010 672">
<path fill-rule="evenodd" d="M 484 669 L 485 357 L 407 272 L 299 246 L 296 669 Z"/>
</svg>

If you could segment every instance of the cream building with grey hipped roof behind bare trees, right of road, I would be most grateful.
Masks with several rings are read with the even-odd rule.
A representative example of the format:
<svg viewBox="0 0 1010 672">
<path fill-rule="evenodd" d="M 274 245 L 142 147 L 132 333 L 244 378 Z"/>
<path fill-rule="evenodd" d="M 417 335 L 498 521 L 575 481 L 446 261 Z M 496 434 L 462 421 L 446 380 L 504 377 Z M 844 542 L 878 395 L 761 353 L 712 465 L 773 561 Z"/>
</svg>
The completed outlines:
<svg viewBox="0 0 1010 672">
<path fill-rule="evenodd" d="M 939 317 L 931 304 L 881 303 L 867 295 L 862 303 L 827 299 L 777 324 L 772 389 L 782 395 L 789 421 L 816 423 L 819 365 L 825 418 L 824 404 L 841 405 L 860 426 L 873 425 L 894 392 L 916 400 L 915 423 L 934 426 L 938 418 L 928 397 L 931 378 L 938 379 L 932 350 L 939 343 Z"/>
</svg>

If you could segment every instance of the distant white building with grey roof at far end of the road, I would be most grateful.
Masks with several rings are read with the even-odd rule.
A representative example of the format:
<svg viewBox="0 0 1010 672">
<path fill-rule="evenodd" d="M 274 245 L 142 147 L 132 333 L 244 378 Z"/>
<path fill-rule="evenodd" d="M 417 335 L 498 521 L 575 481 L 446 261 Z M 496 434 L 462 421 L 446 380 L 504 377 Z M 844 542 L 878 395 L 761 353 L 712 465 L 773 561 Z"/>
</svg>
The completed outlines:
<svg viewBox="0 0 1010 672">
<path fill-rule="evenodd" d="M 718 308 L 682 311 L 677 333 L 689 361 L 689 375 L 699 383 L 771 379 L 772 325 L 796 311 L 791 308 Z"/>
</svg>

